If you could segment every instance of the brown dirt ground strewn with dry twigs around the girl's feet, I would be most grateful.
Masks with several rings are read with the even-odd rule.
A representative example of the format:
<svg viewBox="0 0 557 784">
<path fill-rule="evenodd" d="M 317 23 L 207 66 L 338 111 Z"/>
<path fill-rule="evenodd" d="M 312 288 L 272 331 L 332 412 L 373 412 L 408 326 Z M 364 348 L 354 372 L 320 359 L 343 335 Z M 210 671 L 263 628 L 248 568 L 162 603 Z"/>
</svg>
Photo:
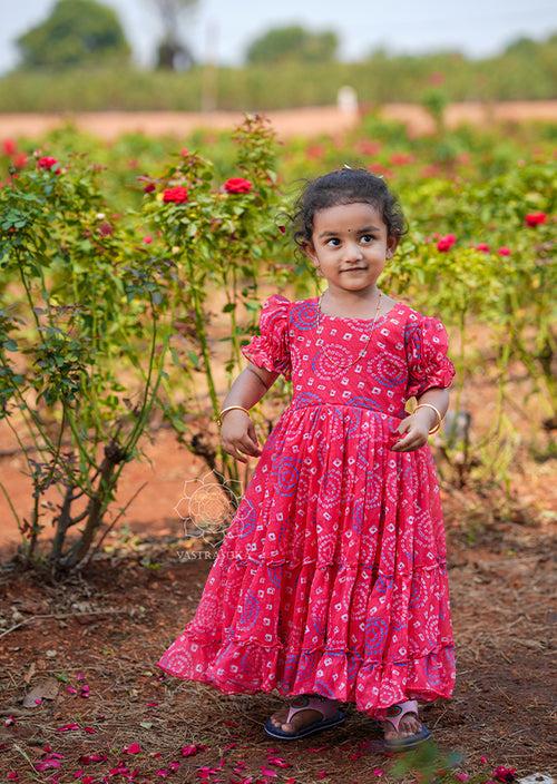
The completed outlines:
<svg viewBox="0 0 557 784">
<path fill-rule="evenodd" d="M 478 519 L 481 504 L 489 510 L 483 520 Z M 515 503 L 505 519 L 492 513 L 501 508 L 497 492 L 482 498 L 443 491 L 443 508 L 458 685 L 451 700 L 424 708 L 424 719 L 441 749 L 465 755 L 462 768 L 468 772 L 487 774 L 496 764 L 517 767 L 519 774 L 550 772 L 550 533 L 526 506 Z M 289 777 L 296 784 L 355 784 L 373 781 L 377 766 L 388 771 L 392 761 L 374 747 L 374 725 L 351 704 L 341 727 L 281 745 L 262 728 L 280 705 L 276 695 L 221 695 L 211 686 L 159 673 L 155 661 L 192 617 L 213 562 L 180 561 L 178 547 L 172 538 L 150 537 L 128 547 L 127 555 L 125 548 L 105 555 L 85 578 L 61 585 L 3 570 L 0 611 L 7 628 L 21 617 L 28 623 L 1 640 L 1 713 L 14 716 L 14 724 L 0 727 L 0 768 L 17 770 L 20 781 L 31 782 L 27 758 L 40 759 L 49 743 L 65 755 L 61 782 L 72 781 L 70 774 L 80 767 L 100 776 L 119 759 L 140 770 L 138 781 L 179 761 L 179 773 L 173 776 L 179 782 L 198 781 L 198 766 L 216 767 L 224 761 L 222 777 L 207 781 L 238 782 L 242 777 L 233 770 L 244 761 L 242 773 L 254 775 L 255 784 L 262 766 L 273 767 L 267 764 L 273 754 L 290 765 L 274 768 L 277 784 Z M 150 567 L 141 564 L 146 553 Z M 14 610 L 20 614 L 16 618 Z M 45 676 L 63 673 L 79 687 L 80 672 L 90 687 L 88 699 L 68 694 L 60 684 L 55 699 L 36 708 L 21 706 L 23 694 Z M 155 706 L 147 705 L 152 700 Z M 81 729 L 57 732 L 69 722 Z M 143 752 L 130 757 L 121 749 L 133 742 Z M 185 744 L 206 748 L 182 757 Z M 82 754 L 99 752 L 107 754 L 107 762 L 79 764 Z M 479 763 L 481 755 L 488 757 L 487 767 Z M 36 781 L 46 781 L 42 775 Z M 383 781 L 392 780 L 387 774 Z"/>
</svg>

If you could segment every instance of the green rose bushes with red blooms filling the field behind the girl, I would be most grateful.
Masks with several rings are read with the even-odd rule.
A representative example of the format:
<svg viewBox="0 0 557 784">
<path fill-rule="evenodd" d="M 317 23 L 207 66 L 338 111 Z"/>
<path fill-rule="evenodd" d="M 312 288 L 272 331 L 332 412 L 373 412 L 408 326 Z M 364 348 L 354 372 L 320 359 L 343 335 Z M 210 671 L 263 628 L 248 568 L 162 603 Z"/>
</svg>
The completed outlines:
<svg viewBox="0 0 557 784">
<path fill-rule="evenodd" d="M 409 138 L 402 124 L 371 114 L 342 138 L 284 145 L 278 160 L 268 122 L 253 115 L 233 135 L 202 129 L 182 143 L 131 134 L 105 145 L 71 125 L 40 141 L 4 140 L 0 416 L 10 425 L 23 411 L 28 441 L 40 445 L 37 460 L 27 455 L 37 499 L 21 522 L 27 552 L 53 482 L 62 497 L 75 491 L 89 501 L 94 536 L 85 549 L 101 539 L 119 472 L 139 454 L 155 413 L 219 482 L 237 480 L 211 430 L 215 363 L 228 381 L 241 367 L 261 286 L 316 293 L 312 268 L 283 229 L 300 178 L 343 163 L 384 176 L 401 199 L 410 232 L 380 285 L 447 324 L 457 365 L 451 408 L 461 409 L 478 372 L 497 389 L 492 415 L 470 443 L 443 437 L 443 478 L 459 487 L 505 482 L 520 445 L 509 414 L 532 396 L 539 428 L 557 398 L 554 137 L 550 126 L 528 124 Z M 60 164 L 41 166 L 46 154 Z M 227 190 L 238 176 L 248 187 Z M 172 188 L 187 198 L 165 197 Z M 539 213 L 544 219 L 528 225 L 528 214 Z M 453 239 L 443 246 L 441 235 Z M 477 325 L 481 349 L 471 340 Z M 511 367 L 528 382 L 520 401 L 507 390 Z M 273 394 L 284 392 L 281 380 Z M 12 429 L 19 438 L 19 424 Z M 65 451 L 62 434 L 71 441 Z M 76 519 L 68 511 L 55 520 L 53 562 L 82 557 L 84 549 L 63 548 Z"/>
</svg>

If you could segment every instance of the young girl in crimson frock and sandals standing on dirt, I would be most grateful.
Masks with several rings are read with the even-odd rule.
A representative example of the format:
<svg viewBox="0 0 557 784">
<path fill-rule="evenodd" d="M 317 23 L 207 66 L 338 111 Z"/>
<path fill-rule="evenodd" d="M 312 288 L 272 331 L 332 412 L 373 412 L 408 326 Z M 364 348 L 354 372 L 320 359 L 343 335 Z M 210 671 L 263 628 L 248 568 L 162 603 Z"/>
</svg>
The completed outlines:
<svg viewBox="0 0 557 784">
<path fill-rule="evenodd" d="M 437 471 L 428 433 L 449 405 L 447 331 L 378 278 L 404 234 L 383 179 L 344 168 L 311 182 L 294 239 L 321 296 L 263 304 L 251 363 L 219 423 L 224 449 L 258 457 L 195 617 L 167 673 L 226 694 L 293 696 L 267 718 L 281 739 L 345 719 L 381 722 L 384 746 L 430 733 L 417 700 L 450 697 L 453 638 Z M 292 400 L 263 449 L 248 409 L 276 380 Z M 408 414 L 404 403 L 418 399 Z"/>
</svg>

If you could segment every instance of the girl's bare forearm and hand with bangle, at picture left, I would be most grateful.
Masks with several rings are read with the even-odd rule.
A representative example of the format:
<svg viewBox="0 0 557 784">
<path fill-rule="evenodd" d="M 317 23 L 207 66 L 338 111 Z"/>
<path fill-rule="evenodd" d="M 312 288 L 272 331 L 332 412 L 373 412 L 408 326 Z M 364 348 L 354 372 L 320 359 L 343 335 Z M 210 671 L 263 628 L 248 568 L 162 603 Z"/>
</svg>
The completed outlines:
<svg viewBox="0 0 557 784">
<path fill-rule="evenodd" d="M 245 409 L 251 409 L 263 398 L 280 375 L 280 373 L 258 367 L 250 362 L 232 384 L 223 401 L 223 409 L 228 405 L 243 405 Z M 233 409 L 224 414 L 221 442 L 225 452 L 243 463 L 248 461 L 248 458 L 243 453 L 254 458 L 258 458 L 261 454 L 255 425 L 250 414 L 242 409 Z"/>
</svg>

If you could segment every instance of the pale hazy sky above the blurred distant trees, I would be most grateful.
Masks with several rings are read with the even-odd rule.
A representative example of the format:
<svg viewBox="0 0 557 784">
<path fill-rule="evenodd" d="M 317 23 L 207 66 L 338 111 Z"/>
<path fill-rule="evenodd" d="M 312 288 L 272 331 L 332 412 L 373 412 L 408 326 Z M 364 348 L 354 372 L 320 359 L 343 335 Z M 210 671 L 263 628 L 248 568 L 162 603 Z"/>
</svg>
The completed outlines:
<svg viewBox="0 0 557 784">
<path fill-rule="evenodd" d="M 160 28 L 153 0 L 104 0 L 120 17 L 138 65 L 153 61 Z M 0 0 L 0 72 L 17 63 L 13 39 L 43 19 L 53 0 Z M 458 49 L 469 57 L 497 53 L 520 36 L 544 39 L 557 29 L 550 0 L 199 0 L 187 23 L 198 59 L 242 62 L 247 45 L 271 27 L 301 23 L 335 29 L 340 57 L 354 60 L 383 47 L 392 53 Z"/>
</svg>

